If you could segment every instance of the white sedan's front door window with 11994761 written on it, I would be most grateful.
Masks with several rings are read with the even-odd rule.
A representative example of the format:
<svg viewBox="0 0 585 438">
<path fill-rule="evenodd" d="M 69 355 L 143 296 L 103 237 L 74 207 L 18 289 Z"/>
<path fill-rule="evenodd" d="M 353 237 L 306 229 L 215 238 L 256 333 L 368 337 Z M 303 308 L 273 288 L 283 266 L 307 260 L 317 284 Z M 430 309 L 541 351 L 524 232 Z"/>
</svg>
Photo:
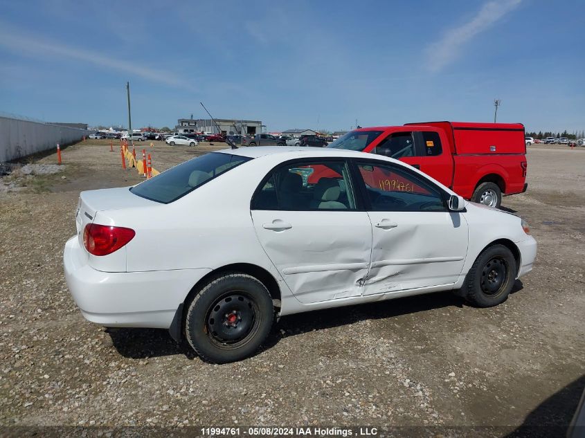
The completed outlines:
<svg viewBox="0 0 585 438">
<path fill-rule="evenodd" d="M 372 211 L 447 211 L 442 192 L 394 165 L 358 163 Z"/>
</svg>

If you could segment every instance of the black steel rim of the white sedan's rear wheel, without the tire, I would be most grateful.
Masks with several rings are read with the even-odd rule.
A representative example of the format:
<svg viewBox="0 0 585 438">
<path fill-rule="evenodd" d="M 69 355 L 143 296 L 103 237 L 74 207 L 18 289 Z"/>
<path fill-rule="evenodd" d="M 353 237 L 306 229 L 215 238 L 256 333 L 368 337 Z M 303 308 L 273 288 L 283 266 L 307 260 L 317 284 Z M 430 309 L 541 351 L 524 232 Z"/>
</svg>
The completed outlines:
<svg viewBox="0 0 585 438">
<path fill-rule="evenodd" d="M 230 291 L 216 300 L 206 317 L 211 342 L 222 349 L 245 344 L 258 331 L 258 304 L 242 291 Z"/>
</svg>

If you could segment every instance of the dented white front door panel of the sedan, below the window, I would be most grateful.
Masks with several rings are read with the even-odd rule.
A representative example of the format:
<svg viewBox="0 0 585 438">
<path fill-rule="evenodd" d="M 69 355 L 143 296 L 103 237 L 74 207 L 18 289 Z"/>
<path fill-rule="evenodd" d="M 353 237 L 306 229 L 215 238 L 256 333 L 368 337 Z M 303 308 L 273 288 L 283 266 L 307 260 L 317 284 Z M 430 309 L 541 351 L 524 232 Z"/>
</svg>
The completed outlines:
<svg viewBox="0 0 585 438">
<path fill-rule="evenodd" d="M 467 221 L 457 212 L 368 212 L 372 262 L 363 295 L 458 280 L 467 255 Z M 377 228 L 377 223 L 393 228 Z"/>
</svg>

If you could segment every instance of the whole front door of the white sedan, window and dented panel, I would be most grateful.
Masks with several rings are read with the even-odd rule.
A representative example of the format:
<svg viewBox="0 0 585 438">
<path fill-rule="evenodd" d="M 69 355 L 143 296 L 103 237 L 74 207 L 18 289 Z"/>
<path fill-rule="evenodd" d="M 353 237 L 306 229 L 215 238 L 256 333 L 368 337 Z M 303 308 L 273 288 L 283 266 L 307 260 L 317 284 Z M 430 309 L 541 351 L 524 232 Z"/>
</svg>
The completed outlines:
<svg viewBox="0 0 585 438">
<path fill-rule="evenodd" d="M 467 221 L 443 191 L 403 166 L 357 161 L 372 225 L 363 295 L 453 284 L 467 255 Z"/>
</svg>

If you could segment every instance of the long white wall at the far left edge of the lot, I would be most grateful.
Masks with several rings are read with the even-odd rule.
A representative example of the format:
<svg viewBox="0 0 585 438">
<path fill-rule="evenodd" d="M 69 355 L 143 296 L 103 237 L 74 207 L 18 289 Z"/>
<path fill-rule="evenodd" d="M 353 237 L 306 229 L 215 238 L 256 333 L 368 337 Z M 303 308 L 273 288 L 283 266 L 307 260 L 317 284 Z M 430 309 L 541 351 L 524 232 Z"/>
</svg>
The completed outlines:
<svg viewBox="0 0 585 438">
<path fill-rule="evenodd" d="M 90 131 L 0 116 L 0 162 L 14 160 L 88 136 Z"/>
</svg>

